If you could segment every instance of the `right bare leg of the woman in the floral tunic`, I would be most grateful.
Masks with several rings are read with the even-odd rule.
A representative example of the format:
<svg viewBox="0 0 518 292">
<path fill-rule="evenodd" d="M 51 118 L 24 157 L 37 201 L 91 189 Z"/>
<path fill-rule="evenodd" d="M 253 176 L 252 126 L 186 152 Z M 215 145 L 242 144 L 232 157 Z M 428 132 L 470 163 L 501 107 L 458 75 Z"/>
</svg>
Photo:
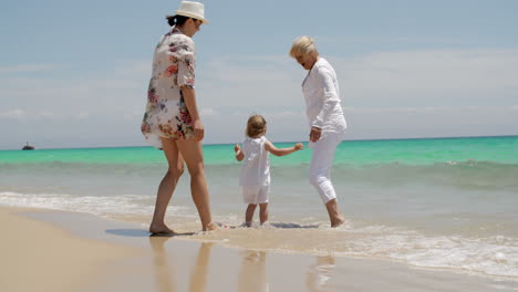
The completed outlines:
<svg viewBox="0 0 518 292">
<path fill-rule="evenodd" d="M 207 189 L 207 180 L 205 179 L 204 169 L 204 153 L 201 142 L 195 139 L 176 140 L 182 157 L 184 157 L 187 169 L 190 174 L 190 194 L 193 201 L 198 209 L 199 219 L 201 220 L 201 230 L 215 230 L 218 227 L 213 222 L 210 213 L 210 202 Z"/>
</svg>

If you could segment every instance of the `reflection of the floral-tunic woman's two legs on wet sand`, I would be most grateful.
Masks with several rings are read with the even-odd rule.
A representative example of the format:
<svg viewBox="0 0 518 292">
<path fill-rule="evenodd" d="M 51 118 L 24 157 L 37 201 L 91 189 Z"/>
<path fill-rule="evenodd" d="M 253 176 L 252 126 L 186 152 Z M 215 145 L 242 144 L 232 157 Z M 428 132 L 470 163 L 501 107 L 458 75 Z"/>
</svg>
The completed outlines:
<svg viewBox="0 0 518 292">
<path fill-rule="evenodd" d="M 165 242 L 172 237 L 149 237 L 149 243 L 154 252 L 154 267 L 157 283 L 157 291 L 174 292 L 178 291 L 175 286 L 175 271 L 168 264 L 170 255 L 165 250 Z M 207 284 L 207 270 L 210 260 L 210 250 L 214 243 L 201 242 L 198 250 L 198 258 L 190 272 L 189 290 L 190 292 L 204 292 Z M 186 263 L 187 264 L 187 263 Z"/>
</svg>

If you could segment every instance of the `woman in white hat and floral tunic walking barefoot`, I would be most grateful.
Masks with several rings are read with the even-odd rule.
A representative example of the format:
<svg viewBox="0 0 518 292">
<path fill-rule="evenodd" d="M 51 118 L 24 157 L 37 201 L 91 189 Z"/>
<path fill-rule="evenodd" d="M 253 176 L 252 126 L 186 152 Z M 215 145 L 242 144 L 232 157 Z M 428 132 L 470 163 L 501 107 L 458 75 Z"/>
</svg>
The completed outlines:
<svg viewBox="0 0 518 292">
<path fill-rule="evenodd" d="M 153 56 L 153 75 L 147 92 L 147 106 L 142 122 L 146 140 L 163 149 L 168 170 L 158 187 L 155 211 L 149 226 L 154 234 L 172 236 L 164 219 L 176 184 L 184 171 L 190 174 L 193 200 L 198 209 L 203 230 L 218 227 L 213 222 L 207 182 L 204 173 L 201 124 L 195 96 L 195 43 L 204 4 L 183 1 L 175 15 L 167 17 L 173 30 L 162 36 Z"/>
</svg>

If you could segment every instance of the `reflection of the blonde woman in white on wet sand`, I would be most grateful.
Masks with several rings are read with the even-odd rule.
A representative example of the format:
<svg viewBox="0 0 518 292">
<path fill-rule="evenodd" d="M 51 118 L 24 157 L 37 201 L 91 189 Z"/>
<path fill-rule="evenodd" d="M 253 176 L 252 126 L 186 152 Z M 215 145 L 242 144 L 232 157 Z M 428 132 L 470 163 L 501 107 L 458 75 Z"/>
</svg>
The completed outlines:
<svg viewBox="0 0 518 292">
<path fill-rule="evenodd" d="M 335 262 L 333 257 L 318 257 L 317 263 L 309 267 L 305 284 L 309 291 L 329 291 L 328 281 L 332 278 Z"/>
</svg>

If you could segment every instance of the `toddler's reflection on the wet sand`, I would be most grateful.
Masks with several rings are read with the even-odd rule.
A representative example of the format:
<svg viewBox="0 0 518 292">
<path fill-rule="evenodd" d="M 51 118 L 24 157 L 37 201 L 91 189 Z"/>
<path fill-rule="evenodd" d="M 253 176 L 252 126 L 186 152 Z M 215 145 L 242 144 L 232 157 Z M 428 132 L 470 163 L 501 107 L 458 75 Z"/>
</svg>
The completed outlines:
<svg viewBox="0 0 518 292">
<path fill-rule="evenodd" d="M 267 292 L 266 252 L 255 250 L 241 251 L 241 271 L 238 277 L 238 290 L 247 292 Z"/>
</svg>

